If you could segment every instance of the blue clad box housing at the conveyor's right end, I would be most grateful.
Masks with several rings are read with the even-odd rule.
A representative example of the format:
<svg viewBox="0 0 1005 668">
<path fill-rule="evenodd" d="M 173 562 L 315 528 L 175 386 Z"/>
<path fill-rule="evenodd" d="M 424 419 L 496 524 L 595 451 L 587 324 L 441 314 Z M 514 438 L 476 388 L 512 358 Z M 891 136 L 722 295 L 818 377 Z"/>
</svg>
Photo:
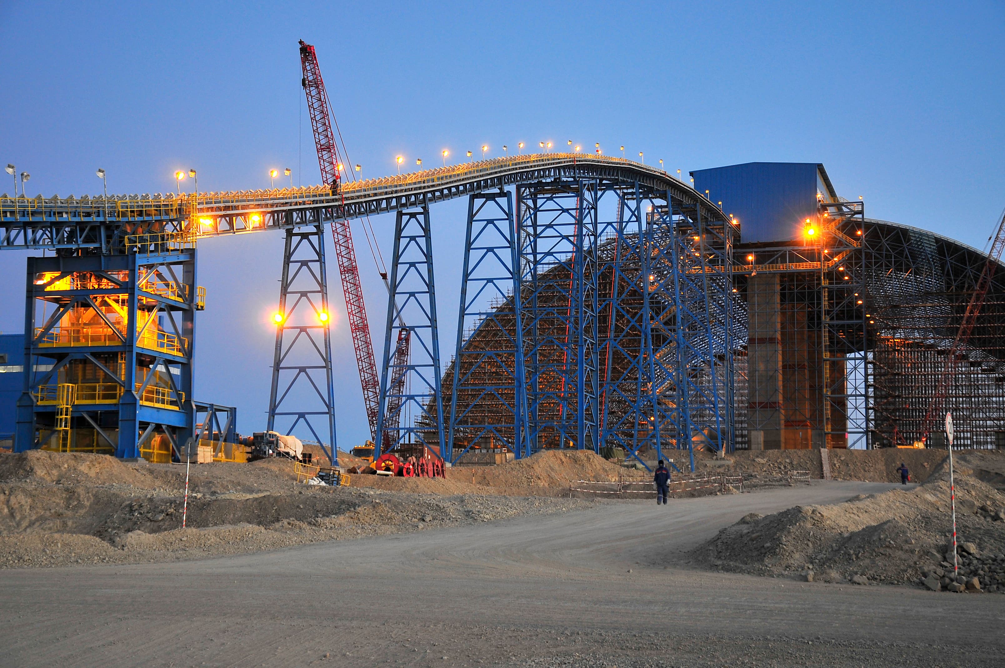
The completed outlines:
<svg viewBox="0 0 1005 668">
<path fill-rule="evenodd" d="M 802 233 L 816 214 L 817 168 L 812 162 L 748 162 L 691 172 L 694 188 L 740 218 L 744 242 L 782 241 Z M 823 193 L 827 196 L 828 193 Z"/>
</svg>

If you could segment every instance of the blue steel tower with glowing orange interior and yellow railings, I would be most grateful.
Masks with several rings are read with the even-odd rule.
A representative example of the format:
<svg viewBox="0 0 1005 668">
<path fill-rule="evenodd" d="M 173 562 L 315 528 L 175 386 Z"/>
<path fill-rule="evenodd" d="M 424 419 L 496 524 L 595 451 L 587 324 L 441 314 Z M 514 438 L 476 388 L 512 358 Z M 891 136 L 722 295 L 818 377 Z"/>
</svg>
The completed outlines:
<svg viewBox="0 0 1005 668">
<path fill-rule="evenodd" d="M 136 458 L 164 441 L 170 461 L 190 443 L 195 248 L 136 238 L 128 255 L 28 258 L 18 452 Z"/>
</svg>

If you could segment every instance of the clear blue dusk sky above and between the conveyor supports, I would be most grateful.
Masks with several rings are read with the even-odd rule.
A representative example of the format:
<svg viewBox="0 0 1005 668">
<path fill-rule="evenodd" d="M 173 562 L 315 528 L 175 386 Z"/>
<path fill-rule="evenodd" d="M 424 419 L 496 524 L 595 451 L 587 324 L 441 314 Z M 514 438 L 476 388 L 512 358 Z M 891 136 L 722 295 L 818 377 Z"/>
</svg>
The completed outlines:
<svg viewBox="0 0 1005 668">
<path fill-rule="evenodd" d="M 1005 206 L 1002 34 L 1001 2 L 0 0 L 0 162 L 31 173 L 31 195 L 99 193 L 97 167 L 112 192 L 168 192 L 190 167 L 200 190 L 264 187 L 272 167 L 316 183 L 303 38 L 364 176 L 398 154 L 567 139 L 668 170 L 822 162 L 867 215 L 983 247 Z M 444 357 L 463 210 L 433 210 Z M 373 222 L 386 254 L 393 219 Z M 242 433 L 264 426 L 281 243 L 200 246 L 196 393 L 237 405 Z M 380 350 L 386 293 L 357 247 Z M 4 332 L 22 326 L 24 257 L 0 255 Z M 334 259 L 330 276 L 338 304 Z M 344 313 L 333 337 L 346 448 L 368 430 Z"/>
</svg>

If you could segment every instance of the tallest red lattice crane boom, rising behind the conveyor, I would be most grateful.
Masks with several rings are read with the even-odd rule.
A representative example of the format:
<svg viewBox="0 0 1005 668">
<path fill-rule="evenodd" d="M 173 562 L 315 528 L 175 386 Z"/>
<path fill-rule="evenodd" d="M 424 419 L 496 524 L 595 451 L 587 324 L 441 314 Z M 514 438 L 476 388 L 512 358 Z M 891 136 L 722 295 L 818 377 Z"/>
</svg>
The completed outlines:
<svg viewBox="0 0 1005 668">
<path fill-rule="evenodd" d="M 332 117 L 329 110 L 328 94 L 325 81 L 321 76 L 321 66 L 315 47 L 300 40 L 300 65 L 304 69 L 301 86 L 308 99 L 308 110 L 311 116 L 311 127 L 314 129 L 315 146 L 318 149 L 318 166 L 325 184 L 335 194 L 340 189 L 339 147 L 335 141 L 332 129 Z M 370 339 L 370 326 L 367 324 L 367 310 L 363 303 L 363 286 L 360 283 L 360 270 L 356 263 L 356 251 L 353 247 L 353 234 L 348 220 L 336 220 L 332 223 L 332 238 L 335 241 L 335 255 L 339 262 L 339 277 L 342 279 L 342 292 L 346 297 L 346 312 L 349 314 L 349 331 L 353 336 L 353 349 L 356 352 L 356 364 L 360 370 L 360 383 L 363 385 L 363 402 L 370 422 L 370 434 L 377 443 L 377 416 L 380 413 L 380 380 L 377 376 L 377 362 L 374 357 L 373 342 Z"/>
</svg>

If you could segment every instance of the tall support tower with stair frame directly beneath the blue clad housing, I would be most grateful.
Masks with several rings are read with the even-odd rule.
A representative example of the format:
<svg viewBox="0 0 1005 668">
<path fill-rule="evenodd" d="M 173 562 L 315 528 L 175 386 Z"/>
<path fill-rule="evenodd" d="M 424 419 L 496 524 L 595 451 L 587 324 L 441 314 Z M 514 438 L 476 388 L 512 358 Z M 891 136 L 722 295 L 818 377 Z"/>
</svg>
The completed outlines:
<svg viewBox="0 0 1005 668">
<path fill-rule="evenodd" d="M 754 450 L 868 447 L 861 202 L 821 201 L 802 242 L 736 252 L 747 351 L 736 389 Z"/>
</svg>

